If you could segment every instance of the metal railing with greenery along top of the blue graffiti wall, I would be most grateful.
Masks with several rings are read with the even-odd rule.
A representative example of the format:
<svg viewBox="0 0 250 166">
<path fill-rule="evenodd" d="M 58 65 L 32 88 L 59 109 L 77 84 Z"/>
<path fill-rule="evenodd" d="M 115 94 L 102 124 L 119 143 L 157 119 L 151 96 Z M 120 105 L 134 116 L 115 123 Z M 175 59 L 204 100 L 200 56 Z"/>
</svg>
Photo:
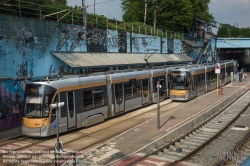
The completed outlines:
<svg viewBox="0 0 250 166">
<path fill-rule="evenodd" d="M 36 4 L 23 0 L 9 0 L 0 2 L 0 13 L 17 17 L 31 17 L 52 22 L 83 25 L 83 15 L 79 7 L 61 6 L 61 8 Z M 57 4 L 58 5 L 58 4 Z M 87 14 L 87 27 L 99 29 L 111 29 L 154 36 L 153 26 L 143 23 L 125 23 L 114 19 L 108 19 L 102 15 Z M 187 35 L 163 29 L 156 29 L 156 37 L 164 37 L 182 40 Z"/>
</svg>

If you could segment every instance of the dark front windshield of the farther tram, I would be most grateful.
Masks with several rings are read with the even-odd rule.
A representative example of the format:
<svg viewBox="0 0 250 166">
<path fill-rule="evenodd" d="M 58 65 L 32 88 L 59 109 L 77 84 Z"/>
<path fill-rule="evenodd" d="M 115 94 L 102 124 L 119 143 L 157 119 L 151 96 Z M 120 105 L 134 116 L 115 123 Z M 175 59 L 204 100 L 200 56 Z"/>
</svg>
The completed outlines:
<svg viewBox="0 0 250 166">
<path fill-rule="evenodd" d="M 188 73 L 186 72 L 173 72 L 171 80 L 171 89 L 173 90 L 187 90 L 189 81 L 187 81 Z M 189 79 L 188 79 L 189 80 Z"/>
</svg>

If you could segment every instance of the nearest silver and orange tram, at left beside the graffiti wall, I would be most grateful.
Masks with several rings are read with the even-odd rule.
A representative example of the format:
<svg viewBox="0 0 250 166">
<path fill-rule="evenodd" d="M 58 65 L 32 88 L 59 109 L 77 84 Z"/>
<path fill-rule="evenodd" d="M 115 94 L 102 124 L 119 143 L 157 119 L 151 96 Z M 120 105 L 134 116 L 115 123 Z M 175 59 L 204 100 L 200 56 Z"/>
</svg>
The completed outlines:
<svg viewBox="0 0 250 166">
<path fill-rule="evenodd" d="M 25 90 L 23 135 L 47 137 L 59 132 L 92 126 L 133 109 L 169 98 L 172 70 L 114 71 L 105 75 L 74 76 L 29 81 Z M 64 102 L 61 108 L 50 104 Z M 56 124 L 58 111 L 59 124 Z"/>
</svg>

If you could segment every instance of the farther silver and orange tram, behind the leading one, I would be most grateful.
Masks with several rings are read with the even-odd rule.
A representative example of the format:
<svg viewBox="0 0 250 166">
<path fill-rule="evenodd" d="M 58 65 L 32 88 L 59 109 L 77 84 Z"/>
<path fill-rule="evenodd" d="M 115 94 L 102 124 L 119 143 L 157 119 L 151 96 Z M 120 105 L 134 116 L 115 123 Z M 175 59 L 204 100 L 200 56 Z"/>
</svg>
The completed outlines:
<svg viewBox="0 0 250 166">
<path fill-rule="evenodd" d="M 188 101 L 203 95 L 217 87 L 215 67 L 217 64 L 183 66 L 172 70 L 170 99 Z M 230 75 L 237 73 L 238 62 L 235 60 L 220 62 L 218 86 L 231 82 Z"/>
</svg>

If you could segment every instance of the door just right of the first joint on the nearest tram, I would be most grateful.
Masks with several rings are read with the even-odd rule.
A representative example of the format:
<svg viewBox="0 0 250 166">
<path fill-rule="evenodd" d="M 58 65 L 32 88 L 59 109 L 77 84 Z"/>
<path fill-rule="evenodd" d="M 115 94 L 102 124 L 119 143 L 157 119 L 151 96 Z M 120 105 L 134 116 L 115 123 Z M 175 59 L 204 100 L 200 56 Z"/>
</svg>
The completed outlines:
<svg viewBox="0 0 250 166">
<path fill-rule="evenodd" d="M 124 86 L 122 83 L 114 85 L 114 107 L 115 113 L 124 111 Z"/>
</svg>

